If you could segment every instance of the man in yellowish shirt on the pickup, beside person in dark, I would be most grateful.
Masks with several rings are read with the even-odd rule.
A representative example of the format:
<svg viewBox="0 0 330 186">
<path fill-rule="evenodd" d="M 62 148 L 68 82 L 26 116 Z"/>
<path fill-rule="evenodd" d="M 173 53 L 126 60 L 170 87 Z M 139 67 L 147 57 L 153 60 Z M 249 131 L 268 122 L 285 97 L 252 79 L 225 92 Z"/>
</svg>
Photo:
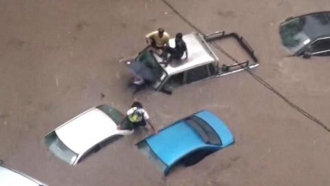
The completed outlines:
<svg viewBox="0 0 330 186">
<path fill-rule="evenodd" d="M 146 34 L 146 43 L 151 45 L 152 48 L 164 50 L 165 45 L 168 45 L 170 39 L 164 28 L 159 28 L 156 31 Z"/>
</svg>

